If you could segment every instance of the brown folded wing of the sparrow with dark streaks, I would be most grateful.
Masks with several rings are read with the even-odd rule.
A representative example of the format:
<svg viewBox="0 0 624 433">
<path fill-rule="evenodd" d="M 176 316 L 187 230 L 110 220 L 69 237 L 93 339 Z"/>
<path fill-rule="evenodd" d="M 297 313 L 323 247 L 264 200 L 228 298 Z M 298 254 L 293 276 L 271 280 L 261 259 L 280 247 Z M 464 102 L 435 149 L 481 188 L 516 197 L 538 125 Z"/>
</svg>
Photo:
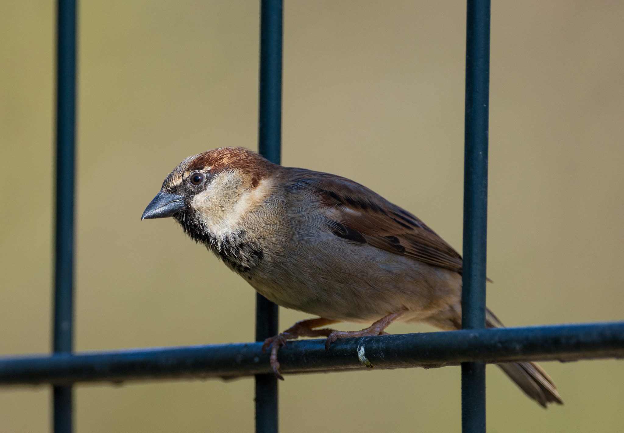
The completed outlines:
<svg viewBox="0 0 624 433">
<path fill-rule="evenodd" d="M 291 187 L 318 193 L 336 236 L 461 273 L 461 255 L 416 216 L 353 180 L 291 170 Z"/>
</svg>

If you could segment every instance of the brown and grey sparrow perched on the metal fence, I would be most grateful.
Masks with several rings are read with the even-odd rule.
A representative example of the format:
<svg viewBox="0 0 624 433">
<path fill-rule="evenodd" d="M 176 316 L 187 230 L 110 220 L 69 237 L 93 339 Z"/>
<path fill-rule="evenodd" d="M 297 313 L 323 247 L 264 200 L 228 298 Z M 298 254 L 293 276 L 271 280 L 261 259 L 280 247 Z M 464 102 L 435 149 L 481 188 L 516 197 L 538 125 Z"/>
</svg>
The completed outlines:
<svg viewBox="0 0 624 433">
<path fill-rule="evenodd" d="M 271 163 L 244 147 L 185 158 L 141 219 L 173 217 L 258 293 L 318 318 L 263 344 L 377 336 L 394 321 L 461 329 L 462 256 L 412 213 L 348 178 Z M 361 331 L 323 328 L 370 324 Z M 503 324 L 487 309 L 486 327 Z M 535 362 L 497 364 L 541 406 L 563 404 Z"/>
</svg>

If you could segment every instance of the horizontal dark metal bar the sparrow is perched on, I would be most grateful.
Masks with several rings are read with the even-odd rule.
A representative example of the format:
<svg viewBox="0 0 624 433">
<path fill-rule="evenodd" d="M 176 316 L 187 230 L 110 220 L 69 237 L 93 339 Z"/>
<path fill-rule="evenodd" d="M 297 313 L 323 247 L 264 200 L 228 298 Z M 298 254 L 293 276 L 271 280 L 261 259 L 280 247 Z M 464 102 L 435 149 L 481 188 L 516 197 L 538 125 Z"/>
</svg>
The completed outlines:
<svg viewBox="0 0 624 433">
<path fill-rule="evenodd" d="M 0 385 L 233 379 L 270 372 L 261 343 L 84 352 L 0 358 Z M 279 353 L 284 374 L 443 367 L 461 362 L 576 361 L 624 358 L 624 322 L 396 334 L 293 341 Z"/>
</svg>

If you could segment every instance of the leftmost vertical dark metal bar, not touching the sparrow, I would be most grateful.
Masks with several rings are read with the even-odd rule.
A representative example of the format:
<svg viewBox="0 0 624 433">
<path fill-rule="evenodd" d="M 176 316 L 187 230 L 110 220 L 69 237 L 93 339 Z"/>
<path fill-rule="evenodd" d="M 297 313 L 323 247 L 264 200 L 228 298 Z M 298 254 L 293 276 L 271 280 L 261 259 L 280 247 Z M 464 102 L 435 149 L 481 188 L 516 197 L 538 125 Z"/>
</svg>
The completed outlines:
<svg viewBox="0 0 624 433">
<path fill-rule="evenodd" d="M 71 353 L 74 285 L 74 150 L 76 139 L 76 0 L 57 3 L 56 247 L 54 353 Z M 55 386 L 54 432 L 72 431 L 72 387 Z"/>
</svg>

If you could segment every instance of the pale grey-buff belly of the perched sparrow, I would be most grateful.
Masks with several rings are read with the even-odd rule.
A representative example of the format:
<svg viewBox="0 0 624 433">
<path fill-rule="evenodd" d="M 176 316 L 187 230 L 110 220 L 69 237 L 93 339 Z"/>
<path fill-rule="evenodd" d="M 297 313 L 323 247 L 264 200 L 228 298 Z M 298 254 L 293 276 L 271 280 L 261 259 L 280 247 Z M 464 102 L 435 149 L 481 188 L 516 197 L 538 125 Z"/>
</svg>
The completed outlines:
<svg viewBox="0 0 624 433">
<path fill-rule="evenodd" d="M 371 323 L 406 311 L 414 321 L 457 303 L 461 276 L 369 245 L 339 240 L 338 247 L 269 256 L 248 279 L 286 308 L 339 321 Z"/>
</svg>

